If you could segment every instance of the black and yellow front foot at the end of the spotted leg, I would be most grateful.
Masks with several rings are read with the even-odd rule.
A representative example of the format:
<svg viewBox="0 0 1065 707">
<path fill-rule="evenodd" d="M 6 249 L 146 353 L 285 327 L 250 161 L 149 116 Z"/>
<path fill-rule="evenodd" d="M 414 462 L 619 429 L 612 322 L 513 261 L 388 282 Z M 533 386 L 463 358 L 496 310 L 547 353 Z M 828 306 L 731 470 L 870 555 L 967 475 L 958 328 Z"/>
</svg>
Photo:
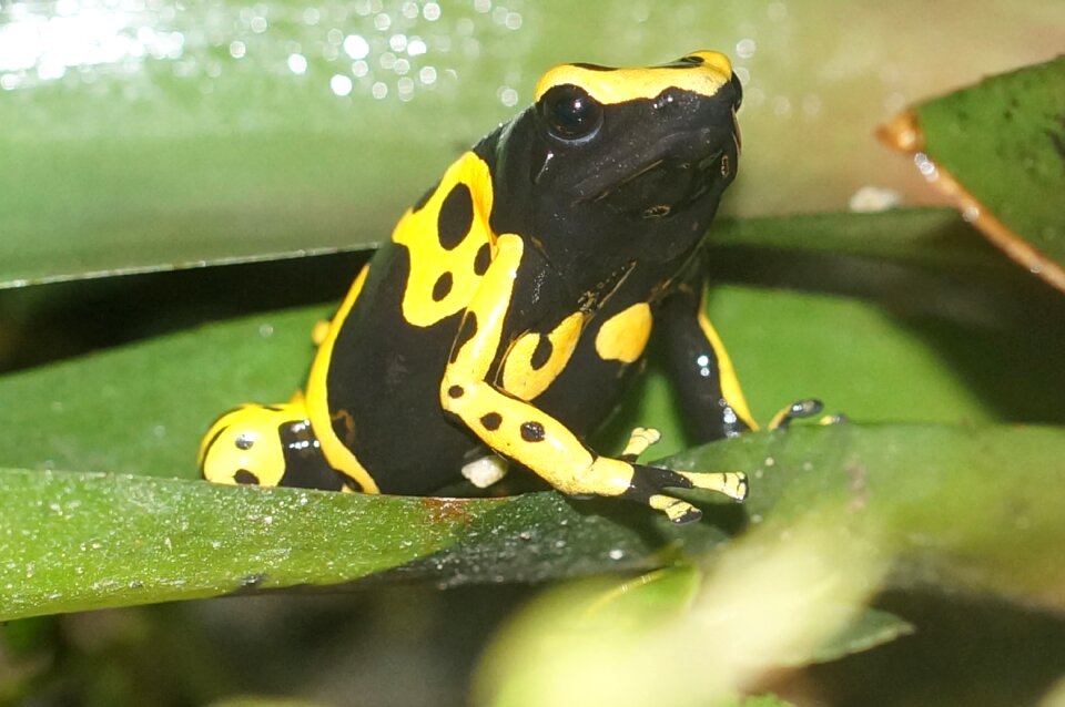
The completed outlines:
<svg viewBox="0 0 1065 707">
<path fill-rule="evenodd" d="M 666 489 L 706 489 L 742 501 L 747 498 L 747 477 L 737 471 L 699 473 L 632 464 L 632 479 L 623 495 L 662 511 L 678 525 L 702 518 L 702 511 L 688 501 L 662 493 Z"/>
</svg>

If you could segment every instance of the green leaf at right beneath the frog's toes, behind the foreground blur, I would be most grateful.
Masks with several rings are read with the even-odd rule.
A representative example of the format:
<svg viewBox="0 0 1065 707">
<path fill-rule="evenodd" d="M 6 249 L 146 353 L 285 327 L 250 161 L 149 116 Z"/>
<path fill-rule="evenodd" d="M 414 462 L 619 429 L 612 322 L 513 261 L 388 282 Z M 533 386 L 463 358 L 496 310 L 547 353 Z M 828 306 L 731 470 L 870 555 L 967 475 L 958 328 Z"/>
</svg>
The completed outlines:
<svg viewBox="0 0 1065 707">
<path fill-rule="evenodd" d="M 1063 428 L 843 423 L 771 433 L 761 459 L 741 450 L 710 445 L 677 468 L 713 463 L 769 480 L 746 504 L 754 523 L 820 516 L 844 535 L 872 531 L 878 551 L 901 559 L 890 578 L 900 586 L 1065 607 Z"/>
</svg>

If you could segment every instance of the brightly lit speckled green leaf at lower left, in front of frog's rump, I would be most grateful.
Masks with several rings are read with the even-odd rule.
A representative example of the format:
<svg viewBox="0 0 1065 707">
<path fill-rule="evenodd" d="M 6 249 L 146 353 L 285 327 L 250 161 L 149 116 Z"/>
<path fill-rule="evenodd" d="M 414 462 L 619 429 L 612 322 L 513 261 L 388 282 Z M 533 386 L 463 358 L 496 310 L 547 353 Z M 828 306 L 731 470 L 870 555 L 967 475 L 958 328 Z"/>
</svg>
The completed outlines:
<svg viewBox="0 0 1065 707">
<path fill-rule="evenodd" d="M 0 488 L 3 621 L 351 581 L 439 551 L 493 505 L 12 470 Z"/>
</svg>

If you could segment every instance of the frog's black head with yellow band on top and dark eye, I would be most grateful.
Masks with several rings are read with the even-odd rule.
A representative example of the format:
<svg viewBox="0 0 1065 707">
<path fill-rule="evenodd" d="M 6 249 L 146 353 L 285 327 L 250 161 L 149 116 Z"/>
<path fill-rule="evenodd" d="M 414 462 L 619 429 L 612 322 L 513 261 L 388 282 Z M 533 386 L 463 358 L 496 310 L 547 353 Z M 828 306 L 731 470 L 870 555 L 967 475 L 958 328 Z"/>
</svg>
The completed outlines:
<svg viewBox="0 0 1065 707">
<path fill-rule="evenodd" d="M 650 68 L 556 66 L 504 136 L 506 188 L 578 228 L 701 236 L 736 175 L 741 95 L 712 51 Z"/>
</svg>

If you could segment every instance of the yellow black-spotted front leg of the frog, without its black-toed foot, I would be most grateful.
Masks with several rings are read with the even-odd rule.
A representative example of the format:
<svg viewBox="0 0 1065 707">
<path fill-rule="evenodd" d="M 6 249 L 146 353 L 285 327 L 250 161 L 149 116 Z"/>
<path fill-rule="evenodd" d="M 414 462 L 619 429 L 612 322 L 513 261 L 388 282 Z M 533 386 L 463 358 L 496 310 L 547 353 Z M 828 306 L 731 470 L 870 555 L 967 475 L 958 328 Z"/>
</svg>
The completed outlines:
<svg viewBox="0 0 1065 707">
<path fill-rule="evenodd" d="M 497 254 L 463 316 L 440 386 L 440 404 L 496 452 L 517 460 L 565 493 L 621 495 L 633 468 L 596 458 L 565 424 L 497 390 L 486 377 L 499 350 L 524 244 L 499 236 Z"/>
</svg>

